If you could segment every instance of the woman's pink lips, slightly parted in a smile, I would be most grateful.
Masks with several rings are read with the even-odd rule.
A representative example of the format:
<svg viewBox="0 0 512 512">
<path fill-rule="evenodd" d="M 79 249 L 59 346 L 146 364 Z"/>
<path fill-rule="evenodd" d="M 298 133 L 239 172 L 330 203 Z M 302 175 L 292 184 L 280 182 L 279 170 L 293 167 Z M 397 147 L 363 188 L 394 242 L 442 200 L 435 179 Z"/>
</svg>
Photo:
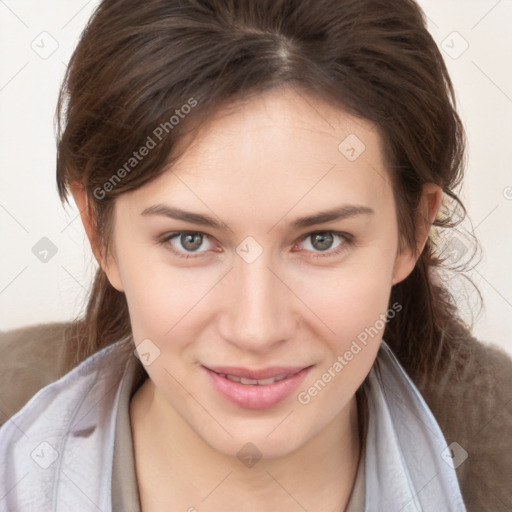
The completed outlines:
<svg viewBox="0 0 512 512">
<path fill-rule="evenodd" d="M 265 409 L 277 405 L 290 396 L 313 366 L 273 367 L 259 371 L 230 367 L 229 372 L 225 372 L 226 367 L 212 369 L 203 366 L 202 368 L 206 371 L 212 387 L 223 399 L 246 409 Z M 219 368 L 224 371 L 218 371 Z M 247 376 L 262 374 L 266 374 L 264 378 Z"/>
</svg>

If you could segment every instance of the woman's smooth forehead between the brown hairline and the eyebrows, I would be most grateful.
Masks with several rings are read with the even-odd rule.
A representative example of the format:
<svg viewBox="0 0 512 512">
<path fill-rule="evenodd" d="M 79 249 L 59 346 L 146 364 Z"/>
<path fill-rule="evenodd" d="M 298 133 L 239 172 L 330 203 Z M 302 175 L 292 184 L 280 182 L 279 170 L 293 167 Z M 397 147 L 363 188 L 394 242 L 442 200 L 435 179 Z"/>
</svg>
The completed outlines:
<svg viewBox="0 0 512 512">
<path fill-rule="evenodd" d="M 131 201 L 219 215 L 265 209 L 275 217 L 290 208 L 299 214 L 323 203 L 375 205 L 391 197 L 376 127 L 290 87 L 219 110 L 192 137 Z"/>
</svg>

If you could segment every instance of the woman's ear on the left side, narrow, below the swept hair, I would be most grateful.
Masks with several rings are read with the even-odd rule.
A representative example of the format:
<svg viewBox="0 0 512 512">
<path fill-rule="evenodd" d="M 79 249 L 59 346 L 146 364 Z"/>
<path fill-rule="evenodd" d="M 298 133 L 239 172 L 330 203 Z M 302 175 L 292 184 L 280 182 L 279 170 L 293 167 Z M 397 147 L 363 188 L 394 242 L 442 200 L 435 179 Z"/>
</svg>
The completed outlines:
<svg viewBox="0 0 512 512">
<path fill-rule="evenodd" d="M 80 218 L 82 219 L 82 224 L 84 225 L 85 233 L 87 234 L 87 238 L 91 244 L 91 250 L 94 254 L 94 257 L 96 258 L 96 261 L 107 275 L 110 284 L 116 290 L 120 292 L 124 291 L 119 268 L 115 258 L 111 254 L 107 256 L 104 256 L 103 254 L 100 240 L 98 238 L 96 219 L 85 187 L 82 184 L 74 181 L 70 184 L 69 188 L 78 207 L 78 211 L 80 212 Z"/>
</svg>

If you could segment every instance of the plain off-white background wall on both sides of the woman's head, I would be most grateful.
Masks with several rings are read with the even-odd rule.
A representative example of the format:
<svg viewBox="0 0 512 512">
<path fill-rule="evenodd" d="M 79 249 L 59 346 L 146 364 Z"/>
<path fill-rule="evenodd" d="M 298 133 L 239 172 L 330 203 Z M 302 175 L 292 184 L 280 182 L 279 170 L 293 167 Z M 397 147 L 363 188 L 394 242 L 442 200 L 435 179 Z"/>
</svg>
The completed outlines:
<svg viewBox="0 0 512 512">
<path fill-rule="evenodd" d="M 468 135 L 461 196 L 483 248 L 468 275 L 485 306 L 474 333 L 512 354 L 512 2 L 419 3 Z M 80 314 L 95 269 L 74 205 L 63 208 L 57 196 L 53 115 L 66 63 L 96 5 L 0 0 L 0 330 Z M 57 248 L 47 263 L 32 252 L 43 237 Z"/>
</svg>

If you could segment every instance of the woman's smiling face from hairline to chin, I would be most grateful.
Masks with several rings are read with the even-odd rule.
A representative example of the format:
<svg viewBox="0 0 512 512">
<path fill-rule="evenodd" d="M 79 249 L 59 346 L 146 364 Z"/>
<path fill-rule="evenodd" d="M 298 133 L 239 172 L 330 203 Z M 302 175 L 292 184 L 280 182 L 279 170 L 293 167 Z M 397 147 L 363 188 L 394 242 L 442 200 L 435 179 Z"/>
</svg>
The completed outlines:
<svg viewBox="0 0 512 512">
<path fill-rule="evenodd" d="M 219 452 L 270 458 L 353 404 L 414 266 L 375 128 L 292 89 L 221 112 L 120 196 L 113 247 L 155 403 Z M 212 379 L 217 366 L 309 370 L 255 386 Z"/>
</svg>

